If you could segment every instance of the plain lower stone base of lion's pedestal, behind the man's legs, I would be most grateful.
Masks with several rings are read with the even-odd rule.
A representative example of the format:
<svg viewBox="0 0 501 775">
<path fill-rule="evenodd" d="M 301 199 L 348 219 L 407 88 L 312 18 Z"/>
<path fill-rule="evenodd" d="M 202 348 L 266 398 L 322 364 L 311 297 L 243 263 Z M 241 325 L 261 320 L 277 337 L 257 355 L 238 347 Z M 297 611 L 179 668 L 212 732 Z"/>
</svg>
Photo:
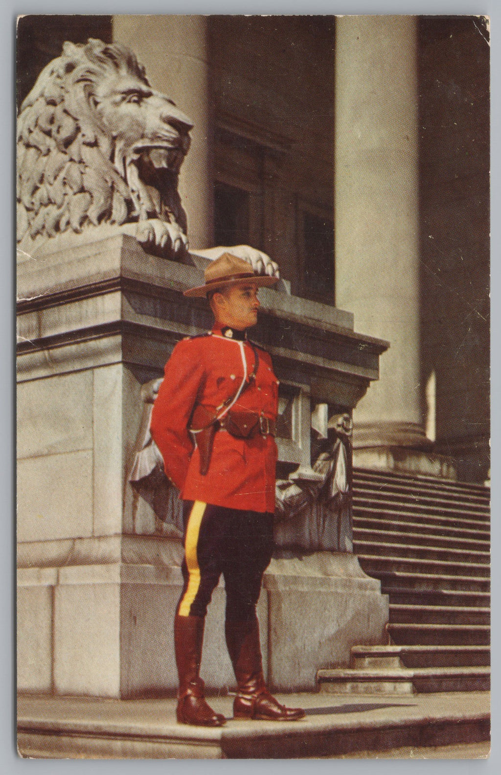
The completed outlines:
<svg viewBox="0 0 501 775">
<path fill-rule="evenodd" d="M 150 550 L 154 553 L 154 547 Z M 18 689 L 108 698 L 173 695 L 178 566 L 110 563 L 18 571 Z M 201 676 L 235 679 L 224 639 L 225 593 L 206 620 Z M 257 604 L 264 674 L 278 691 L 313 690 L 321 667 L 347 666 L 351 646 L 386 641 L 387 595 L 349 553 L 271 561 Z"/>
</svg>

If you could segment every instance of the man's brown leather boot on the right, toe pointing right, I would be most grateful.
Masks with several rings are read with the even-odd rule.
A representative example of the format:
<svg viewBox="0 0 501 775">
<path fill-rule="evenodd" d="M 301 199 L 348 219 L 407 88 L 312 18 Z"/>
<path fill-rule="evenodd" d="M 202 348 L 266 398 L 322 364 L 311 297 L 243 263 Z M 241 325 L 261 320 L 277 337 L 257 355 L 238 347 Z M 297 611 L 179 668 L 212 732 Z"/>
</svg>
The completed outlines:
<svg viewBox="0 0 501 775">
<path fill-rule="evenodd" d="M 302 708 L 286 708 L 266 688 L 257 618 L 250 622 L 226 622 L 226 645 L 238 684 L 234 718 L 280 722 L 303 718 Z"/>
</svg>

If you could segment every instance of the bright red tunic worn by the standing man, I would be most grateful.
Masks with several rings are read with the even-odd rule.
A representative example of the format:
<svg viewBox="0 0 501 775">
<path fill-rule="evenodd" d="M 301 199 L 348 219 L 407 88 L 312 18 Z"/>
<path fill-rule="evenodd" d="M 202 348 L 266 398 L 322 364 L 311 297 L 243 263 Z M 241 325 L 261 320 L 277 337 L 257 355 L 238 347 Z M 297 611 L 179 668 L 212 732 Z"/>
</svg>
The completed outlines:
<svg viewBox="0 0 501 775">
<path fill-rule="evenodd" d="M 217 328 L 207 336 L 179 342 L 165 366 L 150 430 L 164 458 L 165 473 L 185 501 L 253 512 L 275 511 L 277 446 L 273 436 L 236 439 L 226 430 L 218 430 L 209 470 L 202 476 L 199 449 L 188 432 L 195 401 L 216 413 L 216 408 L 233 398 L 245 383 L 248 387 L 234 407 L 276 420 L 278 381 L 269 354 L 256 349 L 258 367 L 252 380 L 252 346 L 246 340 L 227 339 Z"/>
</svg>

